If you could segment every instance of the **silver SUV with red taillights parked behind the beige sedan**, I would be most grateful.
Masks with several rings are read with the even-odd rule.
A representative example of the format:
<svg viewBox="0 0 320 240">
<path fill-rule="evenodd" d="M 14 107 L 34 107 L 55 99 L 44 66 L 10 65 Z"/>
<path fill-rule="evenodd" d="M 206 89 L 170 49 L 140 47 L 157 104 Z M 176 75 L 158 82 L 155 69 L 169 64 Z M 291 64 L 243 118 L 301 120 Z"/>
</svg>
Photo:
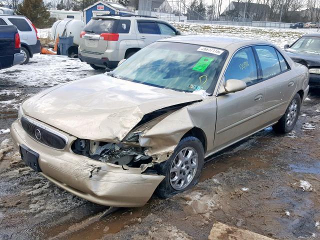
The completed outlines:
<svg viewBox="0 0 320 240">
<path fill-rule="evenodd" d="M 94 69 L 114 68 L 146 45 L 180 32 L 166 21 L 144 15 L 92 17 L 80 33 L 79 58 Z"/>
</svg>

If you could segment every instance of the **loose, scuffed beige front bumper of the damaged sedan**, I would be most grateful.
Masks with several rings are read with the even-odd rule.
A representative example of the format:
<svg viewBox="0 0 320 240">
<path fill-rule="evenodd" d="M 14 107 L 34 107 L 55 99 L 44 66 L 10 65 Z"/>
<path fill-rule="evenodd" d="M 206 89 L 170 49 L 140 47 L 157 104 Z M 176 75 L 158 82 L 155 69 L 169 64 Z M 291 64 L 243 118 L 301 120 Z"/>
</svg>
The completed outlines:
<svg viewBox="0 0 320 240">
<path fill-rule="evenodd" d="M 142 206 L 164 178 L 162 175 L 141 173 L 140 168 L 104 163 L 72 153 L 70 144 L 63 151 L 44 146 L 31 138 L 18 120 L 12 123 L 10 133 L 17 147 L 24 144 L 39 154 L 40 173 L 44 177 L 97 204 Z M 74 140 L 74 137 L 68 137 Z"/>
</svg>

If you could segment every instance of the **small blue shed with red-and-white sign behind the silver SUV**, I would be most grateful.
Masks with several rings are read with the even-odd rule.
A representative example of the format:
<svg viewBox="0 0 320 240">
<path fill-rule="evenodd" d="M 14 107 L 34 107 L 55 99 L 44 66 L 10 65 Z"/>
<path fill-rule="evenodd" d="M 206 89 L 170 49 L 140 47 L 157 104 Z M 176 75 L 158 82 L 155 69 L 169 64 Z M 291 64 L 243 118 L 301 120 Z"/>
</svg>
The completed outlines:
<svg viewBox="0 0 320 240">
<path fill-rule="evenodd" d="M 99 16 L 102 14 L 125 15 L 134 14 L 134 12 L 119 3 L 99 0 L 83 9 L 84 23 L 88 23 L 92 16 Z"/>
</svg>

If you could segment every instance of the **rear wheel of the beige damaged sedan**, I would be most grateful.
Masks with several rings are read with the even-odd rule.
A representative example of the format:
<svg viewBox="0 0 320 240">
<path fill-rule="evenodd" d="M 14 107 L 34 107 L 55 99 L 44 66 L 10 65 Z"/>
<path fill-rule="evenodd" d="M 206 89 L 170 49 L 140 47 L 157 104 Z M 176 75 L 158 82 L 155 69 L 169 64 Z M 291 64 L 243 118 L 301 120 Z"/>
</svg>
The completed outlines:
<svg viewBox="0 0 320 240">
<path fill-rule="evenodd" d="M 296 93 L 286 108 L 284 115 L 272 126 L 274 131 L 278 133 L 290 132 L 298 119 L 300 106 L 301 98 Z"/>
</svg>

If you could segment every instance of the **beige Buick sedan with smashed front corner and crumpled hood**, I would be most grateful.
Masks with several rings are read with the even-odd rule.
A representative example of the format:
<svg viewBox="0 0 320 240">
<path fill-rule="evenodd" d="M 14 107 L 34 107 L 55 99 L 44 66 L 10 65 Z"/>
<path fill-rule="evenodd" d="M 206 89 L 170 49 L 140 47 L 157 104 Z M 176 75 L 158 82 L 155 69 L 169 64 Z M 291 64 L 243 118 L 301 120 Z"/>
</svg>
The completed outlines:
<svg viewBox="0 0 320 240">
<path fill-rule="evenodd" d="M 176 36 L 112 72 L 24 101 L 11 135 L 24 162 L 89 201 L 141 206 L 198 181 L 204 158 L 273 126 L 289 132 L 308 70 L 265 41 Z"/>
</svg>

